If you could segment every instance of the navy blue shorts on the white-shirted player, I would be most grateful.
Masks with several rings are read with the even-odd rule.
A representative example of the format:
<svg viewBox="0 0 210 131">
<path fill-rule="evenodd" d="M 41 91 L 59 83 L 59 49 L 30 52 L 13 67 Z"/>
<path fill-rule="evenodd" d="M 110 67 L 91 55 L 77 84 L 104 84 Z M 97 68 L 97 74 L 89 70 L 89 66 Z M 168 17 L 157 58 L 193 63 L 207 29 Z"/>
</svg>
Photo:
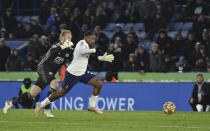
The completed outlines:
<svg viewBox="0 0 210 131">
<path fill-rule="evenodd" d="M 95 77 L 95 75 L 90 71 L 86 71 L 85 74 L 83 74 L 82 76 L 75 76 L 66 71 L 65 78 L 62 83 L 62 88 L 66 91 L 70 91 L 72 87 L 78 82 L 87 83 L 93 77 Z"/>
</svg>

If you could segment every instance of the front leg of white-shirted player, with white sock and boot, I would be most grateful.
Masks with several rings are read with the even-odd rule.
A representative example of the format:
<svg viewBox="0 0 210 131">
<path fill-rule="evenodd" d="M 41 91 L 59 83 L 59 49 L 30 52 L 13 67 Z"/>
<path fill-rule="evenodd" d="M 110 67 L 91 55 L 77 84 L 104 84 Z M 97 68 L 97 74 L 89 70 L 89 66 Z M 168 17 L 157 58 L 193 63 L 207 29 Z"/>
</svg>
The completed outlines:
<svg viewBox="0 0 210 131">
<path fill-rule="evenodd" d="M 97 103 L 99 94 L 101 92 L 102 83 L 103 82 L 101 80 L 99 80 L 97 77 L 94 77 L 90 81 L 88 81 L 88 84 L 90 84 L 94 87 L 93 92 L 92 92 L 92 96 L 91 96 L 91 99 L 90 99 L 90 103 L 89 103 L 89 106 L 88 106 L 88 111 L 93 111 L 97 114 L 102 114 L 103 113 L 102 111 L 100 111 L 96 108 L 96 103 Z"/>
</svg>

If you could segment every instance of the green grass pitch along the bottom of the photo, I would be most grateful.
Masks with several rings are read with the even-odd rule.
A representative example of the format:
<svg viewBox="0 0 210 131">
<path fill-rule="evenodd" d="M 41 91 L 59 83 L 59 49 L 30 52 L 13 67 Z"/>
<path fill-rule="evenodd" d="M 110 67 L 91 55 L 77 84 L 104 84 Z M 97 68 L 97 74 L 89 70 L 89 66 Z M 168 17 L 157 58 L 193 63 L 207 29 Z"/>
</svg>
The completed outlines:
<svg viewBox="0 0 210 131">
<path fill-rule="evenodd" d="M 52 111 L 55 118 L 33 110 L 0 112 L 0 131 L 210 131 L 210 113 L 158 111 Z"/>
</svg>

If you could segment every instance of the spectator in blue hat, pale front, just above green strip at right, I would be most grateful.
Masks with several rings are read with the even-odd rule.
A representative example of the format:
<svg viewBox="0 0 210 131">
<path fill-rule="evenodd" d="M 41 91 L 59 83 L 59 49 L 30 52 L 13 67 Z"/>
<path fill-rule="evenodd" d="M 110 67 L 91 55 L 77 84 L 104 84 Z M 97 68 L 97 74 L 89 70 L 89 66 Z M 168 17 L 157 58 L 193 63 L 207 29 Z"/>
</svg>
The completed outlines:
<svg viewBox="0 0 210 131">
<path fill-rule="evenodd" d="M 173 69 L 177 72 L 189 72 L 191 71 L 191 66 L 187 63 L 184 56 L 180 56 L 178 62 L 176 62 L 175 67 Z"/>
</svg>

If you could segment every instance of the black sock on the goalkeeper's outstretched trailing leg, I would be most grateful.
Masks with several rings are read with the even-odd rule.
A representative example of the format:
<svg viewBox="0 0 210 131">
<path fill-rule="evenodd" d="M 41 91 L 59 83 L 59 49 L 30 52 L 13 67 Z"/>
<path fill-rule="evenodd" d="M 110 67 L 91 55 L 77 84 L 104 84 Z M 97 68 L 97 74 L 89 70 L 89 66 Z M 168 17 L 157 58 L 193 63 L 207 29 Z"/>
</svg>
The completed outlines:
<svg viewBox="0 0 210 131">
<path fill-rule="evenodd" d="M 24 101 L 27 101 L 27 100 L 33 100 L 33 97 L 31 96 L 29 92 L 23 93 L 16 99 L 12 100 L 12 104 L 15 105 L 17 103 L 23 103 Z"/>
</svg>

